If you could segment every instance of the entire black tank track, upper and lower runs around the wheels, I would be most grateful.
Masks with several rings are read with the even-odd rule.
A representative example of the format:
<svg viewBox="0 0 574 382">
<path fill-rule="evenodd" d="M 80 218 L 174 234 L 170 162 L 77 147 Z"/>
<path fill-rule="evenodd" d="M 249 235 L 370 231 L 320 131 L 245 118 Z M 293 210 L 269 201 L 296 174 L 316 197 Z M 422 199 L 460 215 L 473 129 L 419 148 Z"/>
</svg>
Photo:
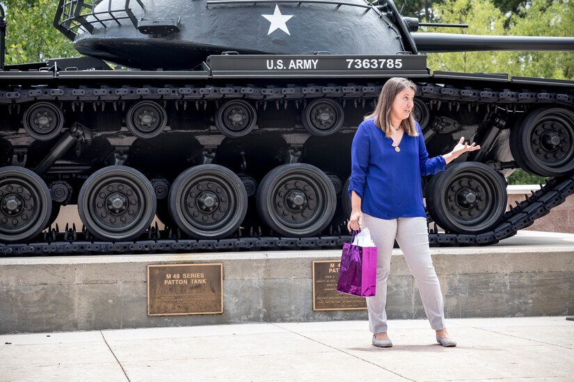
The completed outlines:
<svg viewBox="0 0 574 382">
<path fill-rule="evenodd" d="M 438 81 L 437 81 L 438 82 Z M 216 101 L 224 98 L 256 99 L 263 103 L 275 101 L 277 107 L 285 101 L 303 100 L 317 97 L 337 97 L 345 101 L 363 102 L 374 99 L 381 90 L 380 85 L 368 84 L 366 86 L 347 85 L 308 85 L 289 86 L 287 88 L 267 86 L 266 88 L 245 88 L 227 85 L 225 87 L 205 86 L 204 88 L 55 88 L 42 90 L 15 90 L 13 92 L 0 91 L 0 104 L 17 105 L 24 101 L 74 101 L 78 103 L 92 102 L 94 107 L 104 102 L 123 101 L 127 99 L 154 99 L 161 101 L 191 101 L 200 107 L 201 103 Z M 239 92 L 239 96 L 237 95 Z M 566 105 L 574 106 L 574 97 L 571 94 L 556 94 L 550 92 L 532 92 L 523 90 L 502 92 L 491 89 L 469 90 L 452 87 L 441 87 L 432 83 L 422 85 L 417 97 L 427 101 L 491 104 L 502 108 L 514 105 L 539 103 L 540 105 Z M 265 105 L 266 106 L 266 105 Z M 504 213 L 500 224 L 492 231 L 477 235 L 463 235 L 454 233 L 438 233 L 436 226 L 429 227 L 429 243 L 431 247 L 439 246 L 470 246 L 495 244 L 499 240 L 515 235 L 520 229 L 532 225 L 534 220 L 547 215 L 552 208 L 563 203 L 574 193 L 574 174 L 559 178 L 551 178 L 540 190 L 532 192 L 525 201 L 510 206 Z M 333 229 L 334 228 L 334 229 Z M 235 235 L 234 238 L 222 240 L 189 240 L 182 238 L 179 231 L 159 231 L 152 227 L 145 233 L 145 237 L 129 242 L 100 242 L 86 231 L 77 231 L 75 227 L 63 232 L 50 228 L 38 237 L 40 241 L 28 244 L 0 244 L 0 256 L 15 255 L 51 255 L 51 254 L 109 254 L 109 253 L 146 253 L 146 252 L 173 252 L 173 251 L 253 251 L 261 249 L 334 249 L 340 248 L 351 237 L 342 234 L 342 225 L 331 227 L 332 235 L 313 238 L 279 238 L 265 237 L 261 233 L 250 235 Z"/>
</svg>

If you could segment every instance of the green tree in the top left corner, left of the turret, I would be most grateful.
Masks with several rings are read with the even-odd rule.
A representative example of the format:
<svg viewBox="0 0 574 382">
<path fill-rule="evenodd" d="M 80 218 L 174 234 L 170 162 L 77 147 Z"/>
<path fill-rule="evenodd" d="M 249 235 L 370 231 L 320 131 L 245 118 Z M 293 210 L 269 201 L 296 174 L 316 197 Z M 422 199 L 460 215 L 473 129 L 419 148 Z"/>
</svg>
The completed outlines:
<svg viewBox="0 0 574 382">
<path fill-rule="evenodd" d="M 6 65 L 72 57 L 72 42 L 54 28 L 54 0 L 2 0 L 6 6 Z"/>
</svg>

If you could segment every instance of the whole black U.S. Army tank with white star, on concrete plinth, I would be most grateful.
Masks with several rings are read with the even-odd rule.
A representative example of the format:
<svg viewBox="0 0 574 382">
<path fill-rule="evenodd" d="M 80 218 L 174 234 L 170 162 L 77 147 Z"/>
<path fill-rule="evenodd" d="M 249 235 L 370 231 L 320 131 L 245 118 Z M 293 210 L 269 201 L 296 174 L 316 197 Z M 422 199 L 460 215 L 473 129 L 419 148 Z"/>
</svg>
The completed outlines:
<svg viewBox="0 0 574 382">
<path fill-rule="evenodd" d="M 60 0 L 85 57 L 0 65 L 0 251 L 339 247 L 353 135 L 392 76 L 418 85 L 431 156 L 482 147 L 422 179 L 431 245 L 514 235 L 574 192 L 574 82 L 431 74 L 422 53 L 574 39 L 420 25 L 385 0 Z M 506 211 L 517 168 L 550 180 Z M 52 226 L 68 204 L 83 227 Z"/>
</svg>

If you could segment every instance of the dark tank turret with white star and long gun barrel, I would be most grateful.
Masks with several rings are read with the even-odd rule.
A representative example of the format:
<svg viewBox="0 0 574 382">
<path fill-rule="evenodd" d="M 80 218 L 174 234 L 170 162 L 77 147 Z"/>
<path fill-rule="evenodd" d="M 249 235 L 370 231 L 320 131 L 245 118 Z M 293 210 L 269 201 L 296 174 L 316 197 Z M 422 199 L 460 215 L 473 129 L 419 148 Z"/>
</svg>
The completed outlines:
<svg viewBox="0 0 574 382">
<path fill-rule="evenodd" d="M 212 54 L 397 55 L 571 50 L 574 38 L 412 33 L 392 1 L 60 1 L 54 24 L 87 56 L 138 68 L 188 69 Z M 423 24 L 424 25 L 424 24 Z M 153 52 L 153 53 L 152 53 Z"/>
</svg>

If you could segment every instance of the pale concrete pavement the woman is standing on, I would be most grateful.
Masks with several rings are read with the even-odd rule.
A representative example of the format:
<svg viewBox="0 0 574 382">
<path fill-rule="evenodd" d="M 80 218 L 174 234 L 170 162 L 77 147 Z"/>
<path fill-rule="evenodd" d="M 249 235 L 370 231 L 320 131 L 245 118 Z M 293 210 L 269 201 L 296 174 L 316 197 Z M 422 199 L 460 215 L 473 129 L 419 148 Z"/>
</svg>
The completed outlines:
<svg viewBox="0 0 574 382">
<path fill-rule="evenodd" d="M 574 381 L 574 321 L 391 320 L 391 349 L 366 321 L 183 326 L 0 335 L 0 381 Z"/>
</svg>

